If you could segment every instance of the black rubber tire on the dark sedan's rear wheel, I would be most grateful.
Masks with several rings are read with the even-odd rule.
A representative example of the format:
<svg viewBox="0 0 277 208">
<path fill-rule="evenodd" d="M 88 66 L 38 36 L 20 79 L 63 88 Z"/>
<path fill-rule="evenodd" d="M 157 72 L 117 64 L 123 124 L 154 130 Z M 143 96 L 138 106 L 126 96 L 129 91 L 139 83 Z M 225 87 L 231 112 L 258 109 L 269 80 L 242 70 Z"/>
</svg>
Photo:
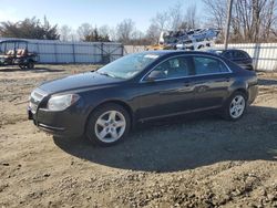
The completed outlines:
<svg viewBox="0 0 277 208">
<path fill-rule="evenodd" d="M 244 107 L 243 107 L 243 110 L 240 110 L 240 111 L 238 111 L 238 108 L 236 108 L 237 110 L 237 112 L 239 112 L 236 116 L 235 116 L 235 114 L 236 114 L 236 112 L 233 112 L 232 113 L 232 108 L 234 110 L 234 107 L 235 107 L 235 105 L 234 105 L 234 103 L 233 103 L 233 101 L 234 100 L 237 100 L 238 97 L 242 97 L 243 98 L 243 103 L 242 103 L 242 105 L 244 105 Z M 238 100 L 237 100 L 238 101 Z M 239 105 L 238 105 L 239 106 Z M 245 112 L 246 112 L 246 108 L 247 108 L 247 96 L 246 96 L 246 94 L 244 93 L 244 92 L 240 92 L 240 91 L 236 91 L 236 92 L 234 92 L 230 96 L 229 96 L 229 98 L 227 100 L 227 102 L 225 103 L 225 105 L 223 106 L 223 113 L 222 113 L 222 115 L 223 115 L 223 118 L 225 118 L 225 119 L 227 119 L 227 121 L 238 121 L 238 119 L 240 119 L 242 117 L 243 117 L 243 115 L 245 114 Z"/>
</svg>

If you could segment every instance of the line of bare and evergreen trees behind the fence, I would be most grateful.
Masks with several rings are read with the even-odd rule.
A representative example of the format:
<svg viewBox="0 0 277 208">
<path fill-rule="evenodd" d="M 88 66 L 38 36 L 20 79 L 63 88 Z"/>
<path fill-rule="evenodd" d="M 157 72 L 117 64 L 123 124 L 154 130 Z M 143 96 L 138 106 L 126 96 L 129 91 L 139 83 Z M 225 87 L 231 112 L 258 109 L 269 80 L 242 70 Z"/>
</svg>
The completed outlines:
<svg viewBox="0 0 277 208">
<path fill-rule="evenodd" d="M 44 39 L 61 41 L 110 42 L 123 44 L 154 44 L 164 30 L 192 30 L 197 28 L 216 28 L 224 31 L 226 25 L 228 0 L 202 0 L 204 11 L 196 4 L 186 10 L 179 1 L 157 12 L 151 20 L 148 29 L 142 32 L 136 29 L 132 19 L 125 19 L 115 27 L 93 27 L 82 23 L 76 30 L 69 25 L 51 25 L 43 21 L 27 18 L 19 22 L 1 22 L 0 35 L 9 38 Z M 202 19 L 199 19 L 199 12 Z M 204 14 L 203 14 L 204 13 Z M 224 33 L 217 42 L 223 42 Z M 277 1 L 276 0 L 234 0 L 230 21 L 230 42 L 276 42 L 277 41 Z"/>
</svg>

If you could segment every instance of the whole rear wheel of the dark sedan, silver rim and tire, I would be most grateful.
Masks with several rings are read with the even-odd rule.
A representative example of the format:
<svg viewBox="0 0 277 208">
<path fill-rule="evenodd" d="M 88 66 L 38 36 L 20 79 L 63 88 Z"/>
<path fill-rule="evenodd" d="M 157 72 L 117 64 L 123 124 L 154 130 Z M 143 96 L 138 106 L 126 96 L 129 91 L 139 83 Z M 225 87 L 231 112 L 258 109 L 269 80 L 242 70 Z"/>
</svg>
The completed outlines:
<svg viewBox="0 0 277 208">
<path fill-rule="evenodd" d="M 224 118 L 229 121 L 239 119 L 245 113 L 246 103 L 246 95 L 243 92 L 235 92 L 223 108 Z"/>
</svg>

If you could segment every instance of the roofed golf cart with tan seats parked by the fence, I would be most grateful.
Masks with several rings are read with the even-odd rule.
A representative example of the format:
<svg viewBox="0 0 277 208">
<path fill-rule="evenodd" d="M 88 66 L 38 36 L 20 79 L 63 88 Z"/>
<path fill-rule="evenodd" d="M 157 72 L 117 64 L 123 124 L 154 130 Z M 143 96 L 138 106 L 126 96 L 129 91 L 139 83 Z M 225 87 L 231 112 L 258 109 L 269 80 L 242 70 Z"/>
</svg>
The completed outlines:
<svg viewBox="0 0 277 208">
<path fill-rule="evenodd" d="M 28 41 L 0 41 L 0 66 L 19 65 L 20 69 L 33 69 L 37 61 L 38 55 L 29 51 Z"/>
</svg>

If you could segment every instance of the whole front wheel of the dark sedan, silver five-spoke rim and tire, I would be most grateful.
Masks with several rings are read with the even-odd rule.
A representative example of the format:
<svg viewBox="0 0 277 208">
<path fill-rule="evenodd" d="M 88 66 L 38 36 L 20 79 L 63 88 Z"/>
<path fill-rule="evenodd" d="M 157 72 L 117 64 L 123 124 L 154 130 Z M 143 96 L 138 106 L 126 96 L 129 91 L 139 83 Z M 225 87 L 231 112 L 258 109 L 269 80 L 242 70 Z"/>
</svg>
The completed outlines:
<svg viewBox="0 0 277 208">
<path fill-rule="evenodd" d="M 86 125 L 86 137 L 94 144 L 111 146 L 121 142 L 130 131 L 130 115 L 117 104 L 106 104 L 95 110 Z"/>
</svg>

